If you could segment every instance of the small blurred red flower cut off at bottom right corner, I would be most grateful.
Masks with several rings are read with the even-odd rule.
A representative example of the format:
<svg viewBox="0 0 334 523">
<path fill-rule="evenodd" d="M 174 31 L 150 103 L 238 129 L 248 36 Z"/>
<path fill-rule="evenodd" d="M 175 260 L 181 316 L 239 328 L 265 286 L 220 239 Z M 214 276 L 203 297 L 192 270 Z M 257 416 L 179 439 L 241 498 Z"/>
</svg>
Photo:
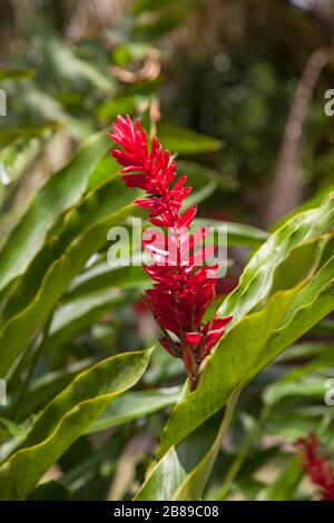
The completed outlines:
<svg viewBox="0 0 334 523">
<path fill-rule="evenodd" d="M 318 440 L 315 434 L 298 440 L 302 451 L 303 467 L 311 481 L 320 487 L 322 501 L 334 501 L 334 463 L 318 455 Z"/>
</svg>

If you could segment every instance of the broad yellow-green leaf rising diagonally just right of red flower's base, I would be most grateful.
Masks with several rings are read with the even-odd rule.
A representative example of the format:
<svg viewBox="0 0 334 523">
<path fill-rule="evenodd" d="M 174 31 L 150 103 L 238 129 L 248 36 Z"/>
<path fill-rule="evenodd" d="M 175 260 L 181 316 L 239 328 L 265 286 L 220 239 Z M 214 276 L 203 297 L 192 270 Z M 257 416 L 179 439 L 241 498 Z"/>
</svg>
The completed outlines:
<svg viewBox="0 0 334 523">
<path fill-rule="evenodd" d="M 214 414 L 222 408 L 233 391 L 247 383 L 257 353 L 282 322 L 293 296 L 292 292 L 278 293 L 265 309 L 248 315 L 237 328 L 226 334 L 219 349 L 207 361 L 197 389 L 178 403 L 171 413 L 163 434 L 159 456 L 170 444 L 181 441 L 209 417 L 208 412 Z"/>
</svg>

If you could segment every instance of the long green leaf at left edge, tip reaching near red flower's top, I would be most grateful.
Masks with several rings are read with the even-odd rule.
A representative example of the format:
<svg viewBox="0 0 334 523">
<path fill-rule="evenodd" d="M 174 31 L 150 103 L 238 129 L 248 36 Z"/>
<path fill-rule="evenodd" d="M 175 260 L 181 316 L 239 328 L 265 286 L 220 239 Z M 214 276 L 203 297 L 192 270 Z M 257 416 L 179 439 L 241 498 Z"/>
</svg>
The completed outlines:
<svg viewBox="0 0 334 523">
<path fill-rule="evenodd" d="M 105 132 L 94 135 L 36 195 L 0 253 L 0 290 L 24 272 L 57 218 L 81 197 L 106 148 Z"/>
</svg>

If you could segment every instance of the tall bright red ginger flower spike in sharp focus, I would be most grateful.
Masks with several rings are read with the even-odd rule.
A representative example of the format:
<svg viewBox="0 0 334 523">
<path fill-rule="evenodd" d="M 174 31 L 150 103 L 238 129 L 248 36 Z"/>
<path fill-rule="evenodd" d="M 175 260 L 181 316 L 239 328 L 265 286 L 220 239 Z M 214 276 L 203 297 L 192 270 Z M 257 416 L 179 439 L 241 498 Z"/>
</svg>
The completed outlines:
<svg viewBox="0 0 334 523">
<path fill-rule="evenodd" d="M 146 303 L 164 333 L 159 339 L 161 345 L 169 354 L 183 359 L 190 388 L 194 389 L 202 362 L 222 338 L 225 326 L 232 319 L 232 316 L 216 317 L 215 314 L 209 322 L 204 322 L 204 315 L 216 295 L 218 265 L 198 268 L 198 253 L 195 254 L 194 249 L 208 229 L 188 235 L 197 207 L 181 213 L 184 200 L 191 191 L 191 187 L 185 186 L 187 176 L 175 182 L 176 161 L 168 150 L 164 151 L 156 137 L 149 150 L 140 120 L 134 126 L 129 116 L 126 119 L 118 116 L 114 132 L 108 137 L 120 146 L 111 149 L 111 154 L 122 166 L 120 172 L 126 186 L 144 189 L 147 194 L 146 198 L 137 199 L 135 204 L 149 209 L 153 225 L 169 229 L 169 238 L 164 235 L 154 244 L 153 238 L 143 241 L 154 262 L 144 268 L 155 280 L 154 288 L 146 292 Z M 213 249 L 202 248 L 202 259 L 207 259 Z"/>
</svg>

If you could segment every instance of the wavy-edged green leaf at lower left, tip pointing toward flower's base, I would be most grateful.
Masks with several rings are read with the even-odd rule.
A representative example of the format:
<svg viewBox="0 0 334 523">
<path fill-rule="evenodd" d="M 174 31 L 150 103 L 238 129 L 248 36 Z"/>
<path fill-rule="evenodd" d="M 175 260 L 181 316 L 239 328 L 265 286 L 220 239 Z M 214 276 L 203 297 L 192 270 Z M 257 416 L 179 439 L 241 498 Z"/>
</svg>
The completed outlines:
<svg viewBox="0 0 334 523">
<path fill-rule="evenodd" d="M 0 467 L 1 500 L 24 500 L 42 474 L 145 372 L 151 351 L 105 359 L 80 374 L 46 407 L 21 447 Z"/>
</svg>

